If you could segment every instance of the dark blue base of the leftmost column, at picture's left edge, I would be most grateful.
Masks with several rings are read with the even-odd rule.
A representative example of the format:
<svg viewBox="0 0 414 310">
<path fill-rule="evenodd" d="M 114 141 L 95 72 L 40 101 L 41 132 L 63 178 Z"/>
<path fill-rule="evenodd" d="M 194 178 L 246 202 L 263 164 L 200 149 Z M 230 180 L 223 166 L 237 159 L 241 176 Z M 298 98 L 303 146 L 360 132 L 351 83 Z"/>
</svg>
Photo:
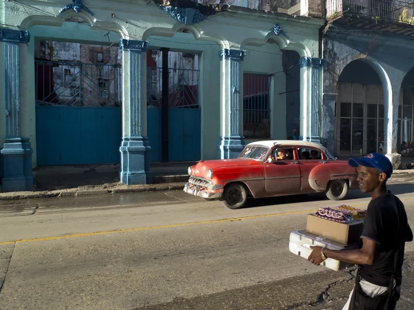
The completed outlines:
<svg viewBox="0 0 414 310">
<path fill-rule="evenodd" d="M 6 138 L 3 156 L 2 192 L 33 190 L 32 147 L 28 138 Z"/>
</svg>

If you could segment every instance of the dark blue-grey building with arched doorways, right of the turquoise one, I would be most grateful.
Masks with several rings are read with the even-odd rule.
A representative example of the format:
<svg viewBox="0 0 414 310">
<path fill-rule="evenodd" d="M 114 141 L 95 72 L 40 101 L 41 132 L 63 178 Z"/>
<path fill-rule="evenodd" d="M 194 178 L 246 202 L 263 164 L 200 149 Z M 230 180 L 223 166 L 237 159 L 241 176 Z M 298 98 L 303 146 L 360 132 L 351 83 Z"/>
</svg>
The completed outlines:
<svg viewBox="0 0 414 310">
<path fill-rule="evenodd" d="M 413 141 L 413 4 L 328 0 L 326 10 L 323 143 L 398 167 Z"/>
</svg>

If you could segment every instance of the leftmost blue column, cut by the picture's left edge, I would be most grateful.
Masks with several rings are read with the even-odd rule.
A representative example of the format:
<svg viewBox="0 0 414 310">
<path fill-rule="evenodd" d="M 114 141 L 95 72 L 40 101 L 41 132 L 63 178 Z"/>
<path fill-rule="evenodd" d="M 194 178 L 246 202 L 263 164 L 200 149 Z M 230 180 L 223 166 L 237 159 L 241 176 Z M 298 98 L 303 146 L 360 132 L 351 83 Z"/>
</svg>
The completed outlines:
<svg viewBox="0 0 414 310">
<path fill-rule="evenodd" d="M 1 150 L 3 156 L 2 192 L 33 189 L 32 148 L 28 138 L 21 137 L 20 125 L 20 44 L 28 43 L 27 31 L 0 29 L 4 44 L 4 100 L 6 103 L 6 140 Z"/>
</svg>

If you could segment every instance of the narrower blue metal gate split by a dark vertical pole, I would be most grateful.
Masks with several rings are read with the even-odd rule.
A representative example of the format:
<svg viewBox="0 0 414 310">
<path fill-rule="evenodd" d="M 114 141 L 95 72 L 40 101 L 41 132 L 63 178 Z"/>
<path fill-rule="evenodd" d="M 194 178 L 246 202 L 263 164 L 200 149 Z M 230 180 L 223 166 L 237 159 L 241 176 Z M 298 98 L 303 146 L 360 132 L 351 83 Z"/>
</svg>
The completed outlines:
<svg viewBox="0 0 414 310">
<path fill-rule="evenodd" d="M 147 70 L 150 162 L 160 162 L 162 68 Z M 201 157 L 199 70 L 169 68 L 168 72 L 168 161 L 198 161 Z"/>
</svg>

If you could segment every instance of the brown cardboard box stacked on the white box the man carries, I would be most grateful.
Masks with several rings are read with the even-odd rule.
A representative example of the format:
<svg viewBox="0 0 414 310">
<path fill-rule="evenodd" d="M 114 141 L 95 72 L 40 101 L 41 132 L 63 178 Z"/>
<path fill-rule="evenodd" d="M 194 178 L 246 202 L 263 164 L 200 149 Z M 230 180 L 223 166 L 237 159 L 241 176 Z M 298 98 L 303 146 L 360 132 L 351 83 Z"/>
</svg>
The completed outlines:
<svg viewBox="0 0 414 310">
<path fill-rule="evenodd" d="M 313 214 L 308 214 L 308 223 L 306 224 L 306 231 L 308 233 L 339 242 L 342 245 L 358 243 L 363 229 L 363 220 L 354 220 L 352 223 L 339 223 L 334 220 L 319 218 L 319 216 Z"/>
</svg>

